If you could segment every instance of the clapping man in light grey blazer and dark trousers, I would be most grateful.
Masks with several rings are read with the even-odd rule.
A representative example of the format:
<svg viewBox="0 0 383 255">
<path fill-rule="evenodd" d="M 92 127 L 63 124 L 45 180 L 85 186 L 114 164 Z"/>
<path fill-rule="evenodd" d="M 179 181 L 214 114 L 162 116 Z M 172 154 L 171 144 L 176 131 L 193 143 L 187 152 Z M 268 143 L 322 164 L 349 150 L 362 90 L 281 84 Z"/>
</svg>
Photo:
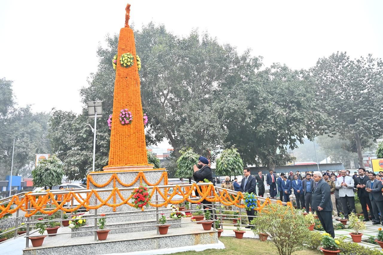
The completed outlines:
<svg viewBox="0 0 383 255">
<path fill-rule="evenodd" d="M 354 186 L 354 179 L 347 176 L 346 170 L 340 171 L 340 177 L 337 178 L 335 187 L 339 189 L 339 197 L 340 201 L 342 201 L 343 214 L 346 219 L 349 218 L 350 213 L 347 203 L 350 205 L 351 212 L 356 212 Z"/>
</svg>

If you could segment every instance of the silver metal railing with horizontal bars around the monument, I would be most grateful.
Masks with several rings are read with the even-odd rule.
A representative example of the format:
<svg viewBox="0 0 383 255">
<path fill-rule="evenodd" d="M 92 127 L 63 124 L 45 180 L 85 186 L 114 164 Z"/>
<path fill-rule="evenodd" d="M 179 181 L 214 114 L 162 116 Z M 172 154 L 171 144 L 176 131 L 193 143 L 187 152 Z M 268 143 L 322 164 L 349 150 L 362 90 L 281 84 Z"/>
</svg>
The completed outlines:
<svg viewBox="0 0 383 255">
<path fill-rule="evenodd" d="M 207 185 L 210 185 L 212 183 L 198 183 L 197 185 L 198 186 L 207 186 Z M 181 185 L 178 185 L 180 186 L 181 188 L 183 187 L 191 187 L 193 184 L 181 184 Z M 162 186 L 157 186 L 159 189 L 164 189 L 164 188 L 174 188 L 175 185 L 162 185 Z M 149 187 L 150 188 L 150 187 Z M 216 189 L 217 192 L 219 191 L 224 191 L 226 189 L 224 188 L 220 188 L 220 187 L 216 187 L 214 186 L 214 188 Z M 126 187 L 126 188 L 119 188 L 119 191 L 132 191 L 136 189 L 136 187 Z M 113 190 L 113 188 L 103 188 L 103 189 L 97 189 L 96 191 L 99 193 L 99 192 L 111 192 Z M 49 191 L 49 193 L 52 193 L 53 195 L 64 195 L 64 194 L 68 194 L 69 192 L 72 192 L 72 193 L 75 193 L 75 194 L 78 194 L 78 193 L 89 193 L 90 191 L 92 190 L 88 190 L 86 188 L 83 188 L 83 189 L 76 189 L 76 190 L 52 190 L 52 191 Z M 237 191 L 232 191 L 232 190 L 226 190 L 227 193 L 229 195 L 233 195 L 233 196 L 237 196 Z M 24 194 L 23 194 L 24 193 Z M 21 197 L 24 197 L 25 196 L 25 193 L 26 192 L 23 192 L 23 193 L 19 193 L 19 196 Z M 44 196 L 46 195 L 48 192 L 38 192 L 38 193 L 29 193 L 29 196 Z M 163 203 L 165 202 L 165 200 L 163 200 L 162 198 L 159 199 L 159 196 L 158 196 L 158 192 L 155 191 L 155 194 L 152 196 L 152 198 L 155 198 L 155 200 L 151 200 L 151 203 L 155 203 L 155 204 L 159 204 L 159 203 Z M 211 196 L 209 198 L 213 198 L 213 191 L 211 191 Z M 259 197 L 257 196 L 256 197 L 261 203 L 263 203 L 265 201 L 266 198 L 263 198 L 263 197 Z M 8 198 L 4 198 L 4 199 L 0 199 L 0 202 L 3 201 L 1 204 L 6 204 L 8 203 L 9 201 L 7 201 L 6 199 L 8 199 L 10 201 L 11 197 L 8 197 Z M 196 198 L 191 198 L 191 195 L 190 195 L 190 198 L 191 200 L 199 200 L 200 198 L 199 197 L 196 197 Z M 180 200 L 179 198 L 174 198 L 172 199 L 172 201 L 178 201 Z M 72 196 L 72 201 L 73 201 L 73 196 Z M 276 203 L 277 200 L 271 200 L 272 203 Z M 65 208 L 69 209 L 69 208 L 76 208 L 77 206 L 70 206 L 70 201 L 67 201 L 67 206 Z M 97 206 L 97 198 L 95 198 L 95 202 L 93 204 L 89 204 L 89 206 Z M 239 200 L 239 204 L 241 205 L 241 199 Z M 282 204 L 286 204 L 286 203 L 282 203 Z M 185 202 L 183 202 L 183 205 L 185 205 Z M 48 207 L 44 208 L 44 210 L 53 210 L 55 209 L 55 207 L 53 207 L 52 204 L 48 204 L 47 205 Z M 50 207 L 49 207 L 50 206 Z M 195 206 L 194 206 L 195 207 Z M 209 208 L 209 209 L 204 209 L 205 207 Z M 203 208 L 202 209 L 196 209 L 196 208 L 193 208 L 192 204 L 190 204 L 190 209 L 189 210 L 186 210 L 186 211 L 183 211 L 183 212 L 196 212 L 196 211 L 211 211 L 211 220 L 202 220 L 202 221 L 198 221 L 198 222 L 210 222 L 210 221 L 213 221 L 213 230 L 216 230 L 216 224 L 215 222 L 216 221 L 220 221 L 219 225 L 222 227 L 223 226 L 223 216 L 233 216 L 233 214 L 225 214 L 222 212 L 222 209 L 224 208 L 230 208 L 231 210 L 224 210 L 224 211 L 234 211 L 234 209 L 237 211 L 239 210 L 239 215 L 238 217 L 242 220 L 243 217 L 247 217 L 247 216 L 244 216 L 242 215 L 242 208 L 238 208 L 236 206 L 226 206 L 224 204 L 221 204 L 220 202 L 211 202 L 211 203 L 205 203 L 203 204 Z M 27 205 L 27 209 L 25 210 L 26 212 L 29 212 L 29 211 L 34 211 L 35 209 L 34 208 L 31 208 L 31 203 L 30 201 L 28 201 L 28 205 Z M 97 222 L 98 222 L 98 219 L 101 218 L 101 216 L 98 214 L 97 212 L 97 209 L 93 209 L 94 210 L 94 213 L 92 213 L 93 215 L 91 215 L 90 213 L 88 215 L 86 215 L 86 217 L 84 217 L 83 219 L 89 221 L 89 220 L 92 220 L 94 219 L 94 229 L 91 229 L 91 230 L 81 230 L 81 231 L 74 231 L 72 233 L 81 233 L 81 232 L 94 232 L 94 237 L 95 237 L 95 241 L 97 241 Z M 219 210 L 219 213 L 218 213 L 218 210 Z M 19 216 L 19 211 L 20 209 L 18 209 L 16 211 L 16 218 L 15 219 L 11 219 L 10 221 L 15 221 L 15 229 L 11 229 L 11 230 L 8 230 L 6 232 L 3 232 L 1 234 L 6 234 L 8 232 L 11 232 L 11 231 L 15 231 L 15 235 L 13 238 L 16 238 L 17 237 L 17 230 L 21 228 L 21 226 L 18 225 L 18 219 L 20 219 L 21 217 L 24 217 L 24 216 Z M 147 212 L 147 213 L 142 213 L 140 215 L 155 215 L 155 224 L 149 224 L 149 225 L 145 225 L 146 227 L 155 227 L 155 229 L 157 230 L 157 235 L 159 235 L 159 226 L 161 224 L 159 224 L 159 214 L 161 212 L 159 211 L 159 208 L 158 207 L 155 207 L 155 212 Z M 166 213 L 171 213 L 171 212 L 166 212 Z M 25 247 L 28 248 L 29 247 L 29 237 L 33 236 L 33 237 L 38 237 L 38 236 L 43 236 L 43 235 L 46 235 L 46 234 L 43 234 L 43 235 L 33 235 L 34 233 L 36 233 L 38 230 L 36 229 L 36 222 L 35 219 L 36 217 L 45 217 L 44 215 L 34 215 L 34 216 L 31 216 L 31 217 L 27 217 L 27 221 L 26 221 L 26 224 L 25 226 L 23 227 L 26 227 L 26 234 L 25 234 L 25 238 L 26 238 L 26 245 Z M 44 224 L 47 224 L 49 222 L 60 222 L 60 225 L 62 226 L 62 222 L 63 221 L 68 221 L 68 220 L 71 220 L 71 219 L 62 219 L 63 217 L 63 211 L 60 210 L 60 218 L 56 218 L 56 219 L 52 219 L 52 220 L 40 220 L 38 221 L 39 223 L 44 223 Z M 113 217 L 128 217 L 128 215 L 108 215 L 108 216 L 103 216 L 103 218 L 113 218 Z M 237 217 L 237 216 L 236 216 Z M 7 222 L 10 222 L 10 221 L 7 221 Z M 195 223 L 193 221 L 190 221 L 190 222 L 176 222 L 176 223 L 167 223 L 166 225 L 176 225 L 176 224 L 191 224 L 191 223 Z M 5 222 L 3 222 L 2 224 L 5 224 Z M 224 224 L 225 226 L 226 225 L 235 225 L 234 223 L 233 224 L 229 224 L 229 223 L 225 223 Z M 249 224 L 242 224 L 243 226 L 250 226 Z M 136 228 L 136 227 L 143 227 L 143 226 L 127 226 L 127 227 L 118 227 L 118 228 L 108 228 L 108 229 L 105 229 L 105 230 L 116 230 L 116 229 L 132 229 L 132 228 Z M 69 234 L 68 232 L 65 232 L 65 233 L 57 233 L 56 235 L 63 235 L 63 234 Z"/>
</svg>

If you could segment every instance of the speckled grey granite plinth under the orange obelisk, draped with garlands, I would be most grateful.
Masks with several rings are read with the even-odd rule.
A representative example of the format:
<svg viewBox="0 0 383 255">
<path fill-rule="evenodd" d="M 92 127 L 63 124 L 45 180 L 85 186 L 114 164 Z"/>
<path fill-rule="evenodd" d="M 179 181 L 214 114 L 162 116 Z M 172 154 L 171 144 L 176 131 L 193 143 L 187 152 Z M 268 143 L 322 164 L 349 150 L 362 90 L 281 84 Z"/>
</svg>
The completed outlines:
<svg viewBox="0 0 383 255">
<path fill-rule="evenodd" d="M 104 184 L 106 183 L 108 180 L 110 180 L 111 176 L 113 175 L 113 173 L 117 173 L 118 175 L 118 178 L 119 180 L 121 180 L 122 183 L 132 183 L 139 172 L 144 172 L 145 174 L 145 178 L 146 180 L 150 183 L 150 184 L 155 184 L 158 182 L 158 180 L 160 180 L 160 178 L 162 177 L 162 173 L 165 172 L 165 170 L 151 170 L 151 171 L 132 171 L 132 172 L 99 172 L 99 173 L 90 173 L 89 175 L 92 176 L 93 178 L 93 181 L 95 181 L 95 183 L 98 183 L 98 184 Z M 143 181 L 144 183 L 144 181 Z M 139 180 L 137 180 L 137 182 L 132 186 L 132 187 L 138 187 L 140 185 L 140 182 Z M 164 179 L 162 179 L 160 181 L 160 183 L 158 184 L 159 185 L 164 185 Z M 150 185 L 149 185 L 150 186 Z M 126 188 L 125 186 L 121 185 L 118 181 L 116 181 L 116 187 L 117 188 Z M 89 188 L 90 189 L 98 189 L 97 186 L 93 185 L 92 183 L 89 184 Z M 111 181 L 108 185 L 104 186 L 103 188 L 114 188 L 113 187 L 113 181 Z M 148 189 L 149 193 L 151 192 L 150 190 L 150 187 Z M 124 197 L 124 198 L 128 198 L 130 195 L 131 195 L 132 191 L 121 191 L 121 195 Z M 109 196 L 110 196 L 110 192 L 100 192 L 98 193 L 98 195 L 100 195 L 101 199 L 103 200 L 106 200 Z M 161 198 L 161 197 L 159 197 Z M 152 200 L 155 200 L 155 196 L 152 198 Z M 90 198 L 90 203 L 93 204 L 95 201 L 95 196 L 93 195 L 91 198 Z M 116 195 L 116 203 L 121 203 L 121 198 Z M 113 198 L 109 199 L 108 201 L 109 203 L 114 203 L 113 202 Z M 99 203 L 99 201 L 98 201 Z M 154 209 L 154 207 L 150 207 L 147 208 L 147 209 Z M 121 206 L 118 206 L 116 208 L 116 211 L 138 211 L 138 209 L 132 207 L 132 206 L 129 206 L 129 205 L 121 205 Z M 93 210 L 90 210 L 89 211 L 90 214 L 93 214 Z M 97 213 L 106 213 L 106 212 L 113 212 L 113 208 L 109 207 L 109 206 L 102 206 L 101 208 L 97 209 Z"/>
</svg>

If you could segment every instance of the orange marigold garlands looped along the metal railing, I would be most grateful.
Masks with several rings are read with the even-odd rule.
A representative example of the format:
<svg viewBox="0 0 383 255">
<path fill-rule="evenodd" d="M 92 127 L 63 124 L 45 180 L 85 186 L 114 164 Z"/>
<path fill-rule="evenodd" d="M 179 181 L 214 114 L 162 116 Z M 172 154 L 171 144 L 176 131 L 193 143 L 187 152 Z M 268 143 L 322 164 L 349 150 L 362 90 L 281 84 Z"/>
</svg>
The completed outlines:
<svg viewBox="0 0 383 255">
<path fill-rule="evenodd" d="M 116 180 L 116 179 L 114 179 Z M 183 187 L 185 188 L 185 187 Z M 182 187 L 179 185 L 175 185 L 174 190 L 172 193 L 169 193 L 170 188 L 159 188 L 158 186 L 153 186 L 149 187 L 151 189 L 150 196 L 153 197 L 155 192 L 164 199 L 164 202 L 162 203 L 152 203 L 150 202 L 150 206 L 154 207 L 162 207 L 162 206 L 167 206 L 168 204 L 180 204 L 183 203 L 184 201 L 189 201 L 190 203 L 200 203 L 203 200 L 209 201 L 209 202 L 220 202 L 224 204 L 225 206 L 236 206 L 238 208 L 245 208 L 245 204 L 241 204 L 240 201 L 243 199 L 243 195 L 240 191 L 238 191 L 237 195 L 230 195 L 227 190 L 222 190 L 218 191 L 218 193 L 215 190 L 215 187 L 213 184 L 210 184 L 208 186 L 198 186 L 196 183 L 193 183 L 191 187 L 187 187 L 188 189 L 185 189 L 185 191 L 182 190 Z M 191 195 L 194 192 L 198 192 L 200 195 L 199 199 L 191 199 Z M 87 198 L 83 199 L 81 196 L 77 193 L 74 193 L 73 191 L 70 191 L 68 194 L 64 194 L 62 196 L 62 203 L 59 204 L 56 199 L 55 195 L 52 192 L 48 192 L 46 195 L 41 195 L 37 197 L 36 196 L 31 196 L 32 192 L 26 193 L 25 197 L 20 199 L 18 196 L 13 196 L 11 201 L 8 203 L 8 205 L 1 206 L 0 205 L 0 218 L 3 217 L 7 213 L 13 213 L 16 212 L 18 209 L 21 209 L 22 211 L 25 211 L 25 217 L 30 217 L 34 215 L 36 212 L 41 212 L 43 214 L 51 214 L 54 213 L 58 210 L 62 210 L 65 212 L 73 212 L 80 207 L 85 207 L 86 209 L 98 209 L 101 206 L 109 206 L 112 208 L 117 208 L 119 206 L 122 206 L 124 204 L 128 204 L 129 206 L 134 207 L 133 203 L 130 203 L 129 200 L 132 198 L 132 194 L 128 196 L 127 198 L 124 198 L 124 196 L 121 194 L 121 191 L 115 187 L 113 190 L 110 192 L 109 196 L 104 200 L 100 197 L 99 193 L 97 190 L 91 190 L 89 193 L 87 193 Z M 97 203 L 97 205 L 90 205 L 89 204 L 89 199 L 92 196 L 95 196 L 97 200 L 100 203 Z M 179 200 L 172 200 L 174 196 L 180 195 L 183 196 L 182 199 Z M 118 196 L 121 199 L 120 203 L 116 203 L 116 196 Z M 169 197 L 168 197 L 169 196 Z M 234 198 L 234 199 L 233 199 Z M 56 208 L 52 210 L 45 210 L 46 205 L 48 201 L 51 199 L 52 203 L 56 206 Z M 74 207 L 74 208 L 67 208 L 64 207 L 65 203 L 71 201 L 72 199 L 75 199 L 79 204 Z M 110 199 L 113 199 L 113 203 L 109 203 Z M 28 212 L 28 202 L 31 204 L 31 208 L 34 209 L 33 211 Z M 261 212 L 262 209 L 267 205 L 271 204 L 272 201 L 270 199 L 266 199 L 263 204 L 260 204 L 259 201 L 257 201 L 258 206 L 256 208 L 257 211 Z M 282 204 L 282 202 L 277 201 L 277 203 Z M 11 206 L 15 204 L 16 207 L 11 209 Z M 287 203 L 287 206 L 291 208 L 292 210 L 292 205 L 290 202 Z M 144 211 L 144 208 L 141 209 Z"/>
</svg>

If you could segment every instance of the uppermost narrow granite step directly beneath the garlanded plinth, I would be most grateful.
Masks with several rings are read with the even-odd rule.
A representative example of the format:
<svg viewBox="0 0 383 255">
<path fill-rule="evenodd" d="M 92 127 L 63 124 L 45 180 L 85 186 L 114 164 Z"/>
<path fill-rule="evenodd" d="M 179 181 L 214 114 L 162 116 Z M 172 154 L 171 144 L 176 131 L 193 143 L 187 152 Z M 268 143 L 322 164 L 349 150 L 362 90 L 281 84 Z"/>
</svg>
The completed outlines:
<svg viewBox="0 0 383 255">
<path fill-rule="evenodd" d="M 159 208 L 158 211 L 160 213 L 164 213 L 166 217 L 170 217 L 171 209 L 170 208 Z M 155 219 L 155 209 L 145 209 L 144 212 L 141 210 L 137 211 L 126 211 L 126 212 L 105 212 L 106 217 L 108 216 L 116 216 L 106 218 L 106 222 L 115 223 L 115 222 L 125 222 L 125 221 L 138 221 L 138 220 L 149 220 Z M 97 211 L 97 215 L 100 216 L 101 212 Z M 94 217 L 94 212 L 87 212 L 83 214 L 83 218 L 87 219 L 88 217 Z M 90 219 L 89 221 L 93 222 L 94 219 Z"/>
</svg>

